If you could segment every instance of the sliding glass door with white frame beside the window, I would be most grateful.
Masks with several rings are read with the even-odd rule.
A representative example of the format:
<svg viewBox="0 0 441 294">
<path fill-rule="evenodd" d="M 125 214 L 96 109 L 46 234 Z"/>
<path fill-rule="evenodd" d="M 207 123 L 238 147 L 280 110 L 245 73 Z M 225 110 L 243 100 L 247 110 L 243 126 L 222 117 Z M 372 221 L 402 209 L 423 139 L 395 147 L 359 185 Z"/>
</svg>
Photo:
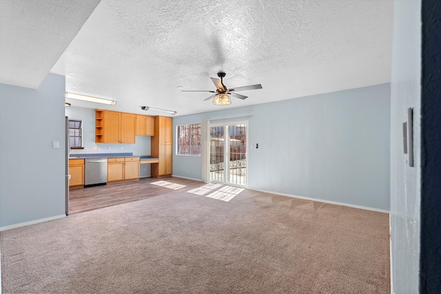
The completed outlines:
<svg viewBox="0 0 441 294">
<path fill-rule="evenodd" d="M 210 125 L 209 180 L 247 187 L 247 122 Z"/>
</svg>

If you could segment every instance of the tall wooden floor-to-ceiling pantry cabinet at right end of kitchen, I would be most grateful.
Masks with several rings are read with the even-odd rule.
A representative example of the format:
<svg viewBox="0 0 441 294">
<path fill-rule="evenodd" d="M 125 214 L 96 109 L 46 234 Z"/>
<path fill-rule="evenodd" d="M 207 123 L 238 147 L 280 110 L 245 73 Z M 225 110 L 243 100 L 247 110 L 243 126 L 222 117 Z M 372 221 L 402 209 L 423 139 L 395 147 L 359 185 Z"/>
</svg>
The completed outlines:
<svg viewBox="0 0 441 294">
<path fill-rule="evenodd" d="M 152 165 L 153 178 L 172 175 L 173 155 L 173 118 L 155 116 L 154 134 L 151 139 L 152 158 L 159 158 L 159 163 Z"/>
</svg>

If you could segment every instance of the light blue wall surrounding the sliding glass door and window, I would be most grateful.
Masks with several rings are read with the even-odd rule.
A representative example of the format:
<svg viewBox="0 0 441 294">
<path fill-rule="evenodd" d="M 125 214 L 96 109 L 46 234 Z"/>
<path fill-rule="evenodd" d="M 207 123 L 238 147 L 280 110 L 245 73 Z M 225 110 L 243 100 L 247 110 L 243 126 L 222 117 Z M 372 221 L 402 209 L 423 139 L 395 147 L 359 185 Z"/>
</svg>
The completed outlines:
<svg viewBox="0 0 441 294">
<path fill-rule="evenodd" d="M 232 120 L 249 120 L 259 145 L 248 148 L 250 189 L 389 210 L 389 84 L 178 116 L 174 132 L 248 114 Z M 173 174 L 201 179 L 201 158 L 174 155 Z"/>
</svg>

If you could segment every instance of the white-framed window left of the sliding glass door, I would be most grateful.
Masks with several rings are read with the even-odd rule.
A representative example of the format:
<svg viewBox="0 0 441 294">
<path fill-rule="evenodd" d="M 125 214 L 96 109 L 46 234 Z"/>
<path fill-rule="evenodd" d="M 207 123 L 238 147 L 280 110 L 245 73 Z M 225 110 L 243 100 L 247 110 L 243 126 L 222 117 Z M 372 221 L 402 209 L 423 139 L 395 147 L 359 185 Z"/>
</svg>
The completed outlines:
<svg viewBox="0 0 441 294">
<path fill-rule="evenodd" d="M 177 154 L 201 156 L 201 124 L 178 125 Z"/>
</svg>

